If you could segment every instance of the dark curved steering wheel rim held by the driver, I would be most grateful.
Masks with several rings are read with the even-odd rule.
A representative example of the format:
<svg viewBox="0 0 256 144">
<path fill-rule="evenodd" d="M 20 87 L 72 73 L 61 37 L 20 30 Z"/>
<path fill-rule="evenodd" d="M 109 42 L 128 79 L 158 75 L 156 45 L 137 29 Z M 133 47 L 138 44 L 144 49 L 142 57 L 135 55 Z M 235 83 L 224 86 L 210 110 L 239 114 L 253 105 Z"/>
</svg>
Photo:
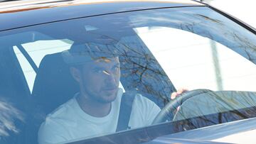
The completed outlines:
<svg viewBox="0 0 256 144">
<path fill-rule="evenodd" d="M 213 92 L 209 89 L 194 89 L 192 91 L 184 92 L 180 96 L 177 96 L 173 101 L 170 101 L 166 106 L 164 106 L 163 109 L 157 114 L 156 118 L 154 118 L 154 121 L 152 124 L 156 123 L 162 123 L 167 121 L 168 119 L 173 120 L 174 119 L 174 111 L 178 108 L 178 106 L 181 106 L 184 101 L 187 99 L 190 99 L 193 96 L 197 96 L 199 94 L 207 93 L 207 92 Z"/>
</svg>

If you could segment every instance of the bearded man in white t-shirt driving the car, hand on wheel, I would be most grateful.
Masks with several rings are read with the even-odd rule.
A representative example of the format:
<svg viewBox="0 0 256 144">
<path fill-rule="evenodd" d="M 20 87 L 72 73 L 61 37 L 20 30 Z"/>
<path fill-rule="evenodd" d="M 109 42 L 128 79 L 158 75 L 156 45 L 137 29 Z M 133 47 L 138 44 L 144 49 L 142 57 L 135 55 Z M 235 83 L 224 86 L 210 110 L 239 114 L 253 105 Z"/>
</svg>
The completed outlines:
<svg viewBox="0 0 256 144">
<path fill-rule="evenodd" d="M 63 58 L 70 65 L 80 92 L 47 116 L 38 131 L 39 143 L 61 143 L 116 132 L 124 94 L 119 88 L 119 56 L 97 47 L 79 46 L 63 52 Z M 172 98 L 179 93 L 172 94 Z M 135 94 L 127 129 L 149 126 L 159 111 L 153 101 Z"/>
</svg>

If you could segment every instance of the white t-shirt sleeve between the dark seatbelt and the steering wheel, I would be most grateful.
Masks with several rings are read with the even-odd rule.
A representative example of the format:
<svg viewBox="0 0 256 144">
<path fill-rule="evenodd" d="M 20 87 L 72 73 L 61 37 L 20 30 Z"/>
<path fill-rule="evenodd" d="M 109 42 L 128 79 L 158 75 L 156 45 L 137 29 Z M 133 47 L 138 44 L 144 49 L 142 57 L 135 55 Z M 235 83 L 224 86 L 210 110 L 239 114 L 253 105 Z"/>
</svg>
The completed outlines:
<svg viewBox="0 0 256 144">
<path fill-rule="evenodd" d="M 142 118 L 144 126 L 151 125 L 156 115 L 161 111 L 159 106 L 141 94 L 135 96 L 133 109 L 141 115 L 139 117 Z M 138 114 L 136 115 L 138 116 Z"/>
</svg>

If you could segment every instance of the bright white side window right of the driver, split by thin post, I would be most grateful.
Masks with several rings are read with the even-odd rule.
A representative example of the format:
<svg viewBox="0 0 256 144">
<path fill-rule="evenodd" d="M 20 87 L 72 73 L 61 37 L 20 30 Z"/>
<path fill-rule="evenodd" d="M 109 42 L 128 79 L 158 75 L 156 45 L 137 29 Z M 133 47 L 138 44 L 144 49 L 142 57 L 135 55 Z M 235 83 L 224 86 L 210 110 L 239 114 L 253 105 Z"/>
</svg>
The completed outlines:
<svg viewBox="0 0 256 144">
<path fill-rule="evenodd" d="M 210 40 L 175 28 L 137 28 L 176 88 L 217 90 Z M 217 43 L 223 89 L 255 91 L 256 67 Z"/>
</svg>

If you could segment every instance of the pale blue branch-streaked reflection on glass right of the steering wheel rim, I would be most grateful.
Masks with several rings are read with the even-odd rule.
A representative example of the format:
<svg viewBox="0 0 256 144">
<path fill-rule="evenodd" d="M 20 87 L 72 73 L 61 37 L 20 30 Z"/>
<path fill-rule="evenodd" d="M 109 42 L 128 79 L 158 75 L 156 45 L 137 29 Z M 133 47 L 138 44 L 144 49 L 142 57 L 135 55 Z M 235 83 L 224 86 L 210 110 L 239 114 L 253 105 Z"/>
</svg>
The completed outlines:
<svg viewBox="0 0 256 144">
<path fill-rule="evenodd" d="M 185 101 L 174 116 L 176 131 L 212 126 L 256 116 L 254 92 L 208 92 Z"/>
</svg>

